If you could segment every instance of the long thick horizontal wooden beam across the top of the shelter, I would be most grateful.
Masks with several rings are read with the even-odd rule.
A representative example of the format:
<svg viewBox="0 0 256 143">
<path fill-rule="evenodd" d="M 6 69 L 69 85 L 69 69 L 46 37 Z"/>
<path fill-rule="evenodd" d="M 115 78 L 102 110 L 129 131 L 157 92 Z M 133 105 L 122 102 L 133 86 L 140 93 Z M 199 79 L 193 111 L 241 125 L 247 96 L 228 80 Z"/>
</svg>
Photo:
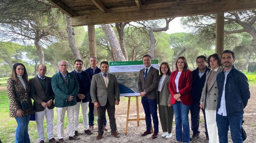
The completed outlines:
<svg viewBox="0 0 256 143">
<path fill-rule="evenodd" d="M 225 0 L 193 5 L 162 7 L 147 10 L 134 10 L 97 15 L 83 15 L 70 17 L 72 26 L 87 24 L 106 24 L 130 22 L 138 20 L 160 19 L 217 13 L 219 11 L 242 11 L 256 9 L 256 0 Z"/>
</svg>

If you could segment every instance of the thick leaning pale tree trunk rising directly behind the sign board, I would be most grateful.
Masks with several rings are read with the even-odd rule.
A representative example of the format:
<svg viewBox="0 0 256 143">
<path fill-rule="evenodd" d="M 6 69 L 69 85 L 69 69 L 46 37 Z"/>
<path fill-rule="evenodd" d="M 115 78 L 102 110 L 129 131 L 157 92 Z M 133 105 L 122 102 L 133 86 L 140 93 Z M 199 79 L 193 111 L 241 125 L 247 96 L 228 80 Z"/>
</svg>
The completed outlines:
<svg viewBox="0 0 256 143">
<path fill-rule="evenodd" d="M 101 26 L 107 36 L 112 51 L 114 52 L 115 59 L 117 61 L 126 61 L 112 26 L 110 24 L 102 24 Z"/>
</svg>

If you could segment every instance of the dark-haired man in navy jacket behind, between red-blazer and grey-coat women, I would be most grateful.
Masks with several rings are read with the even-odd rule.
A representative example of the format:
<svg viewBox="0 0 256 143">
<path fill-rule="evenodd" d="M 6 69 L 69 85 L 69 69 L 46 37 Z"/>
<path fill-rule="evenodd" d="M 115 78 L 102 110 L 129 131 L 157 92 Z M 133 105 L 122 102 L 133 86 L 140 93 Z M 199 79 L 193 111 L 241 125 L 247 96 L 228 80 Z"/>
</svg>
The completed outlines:
<svg viewBox="0 0 256 143">
<path fill-rule="evenodd" d="M 206 66 L 206 57 L 201 55 L 196 58 L 197 68 L 192 71 L 193 74 L 193 82 L 192 82 L 192 98 L 193 104 L 190 106 L 190 115 L 191 115 L 191 130 L 193 131 L 193 135 L 190 140 L 195 140 L 199 138 L 199 120 L 200 120 L 200 110 L 203 112 L 204 117 L 204 128 L 205 128 L 205 136 L 206 140 L 209 140 L 207 127 L 206 127 L 206 119 L 205 119 L 205 111 L 200 108 L 200 98 L 202 94 L 202 89 L 204 86 L 206 72 L 210 70 Z"/>
</svg>

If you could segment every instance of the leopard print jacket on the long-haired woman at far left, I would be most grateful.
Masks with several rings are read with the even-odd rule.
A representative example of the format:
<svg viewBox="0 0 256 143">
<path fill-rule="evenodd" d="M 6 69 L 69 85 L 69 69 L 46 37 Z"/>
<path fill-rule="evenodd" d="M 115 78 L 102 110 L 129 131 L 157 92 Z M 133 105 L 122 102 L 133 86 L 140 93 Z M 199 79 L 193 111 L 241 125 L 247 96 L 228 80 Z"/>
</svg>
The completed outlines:
<svg viewBox="0 0 256 143">
<path fill-rule="evenodd" d="M 24 116 L 28 116 L 34 113 L 33 104 L 29 96 L 30 87 L 27 83 L 25 84 L 26 90 L 24 89 L 24 86 L 20 80 L 18 83 L 16 83 L 13 78 L 8 78 L 7 80 L 7 92 L 10 99 L 10 117 L 18 117 L 17 110 L 21 109 L 21 101 L 25 98 L 27 99 L 28 110 L 24 110 Z"/>
</svg>

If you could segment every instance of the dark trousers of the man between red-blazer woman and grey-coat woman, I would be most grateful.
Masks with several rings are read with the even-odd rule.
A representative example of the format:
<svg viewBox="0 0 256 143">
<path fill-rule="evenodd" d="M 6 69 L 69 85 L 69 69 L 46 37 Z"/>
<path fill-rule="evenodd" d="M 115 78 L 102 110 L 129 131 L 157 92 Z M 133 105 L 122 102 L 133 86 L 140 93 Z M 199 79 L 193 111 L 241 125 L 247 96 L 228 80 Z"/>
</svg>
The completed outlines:
<svg viewBox="0 0 256 143">
<path fill-rule="evenodd" d="M 193 103 L 193 105 L 190 106 L 190 115 L 191 115 L 191 130 L 193 131 L 193 134 L 200 133 L 199 129 L 199 120 L 200 120 L 200 103 Z M 208 135 L 207 126 L 206 126 L 206 118 L 205 118 L 205 111 L 204 109 L 201 109 L 203 112 L 203 118 L 204 118 L 204 128 L 205 128 L 205 135 Z"/>
</svg>

